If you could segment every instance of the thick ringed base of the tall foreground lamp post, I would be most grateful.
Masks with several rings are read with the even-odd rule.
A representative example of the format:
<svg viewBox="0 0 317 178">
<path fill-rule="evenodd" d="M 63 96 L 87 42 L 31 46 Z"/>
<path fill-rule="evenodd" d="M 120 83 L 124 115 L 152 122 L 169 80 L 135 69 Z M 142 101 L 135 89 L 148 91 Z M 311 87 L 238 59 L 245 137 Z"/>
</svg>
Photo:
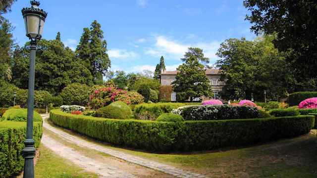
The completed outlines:
<svg viewBox="0 0 317 178">
<path fill-rule="evenodd" d="M 25 148 L 22 150 L 24 157 L 23 178 L 34 178 L 34 156 L 36 151 L 34 143 L 33 139 L 26 139 L 24 141 Z"/>
</svg>

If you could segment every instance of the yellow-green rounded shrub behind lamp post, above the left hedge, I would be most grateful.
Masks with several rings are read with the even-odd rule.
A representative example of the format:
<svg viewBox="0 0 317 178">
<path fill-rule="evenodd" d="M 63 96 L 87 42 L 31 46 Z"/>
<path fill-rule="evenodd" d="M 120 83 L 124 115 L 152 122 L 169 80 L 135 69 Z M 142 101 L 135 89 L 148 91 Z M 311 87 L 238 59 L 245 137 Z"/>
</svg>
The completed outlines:
<svg viewBox="0 0 317 178">
<path fill-rule="evenodd" d="M 16 122 L 26 122 L 27 121 L 27 109 L 8 109 L 5 111 L 0 121 L 16 121 Z M 41 115 L 34 111 L 33 121 L 41 122 Z"/>
</svg>

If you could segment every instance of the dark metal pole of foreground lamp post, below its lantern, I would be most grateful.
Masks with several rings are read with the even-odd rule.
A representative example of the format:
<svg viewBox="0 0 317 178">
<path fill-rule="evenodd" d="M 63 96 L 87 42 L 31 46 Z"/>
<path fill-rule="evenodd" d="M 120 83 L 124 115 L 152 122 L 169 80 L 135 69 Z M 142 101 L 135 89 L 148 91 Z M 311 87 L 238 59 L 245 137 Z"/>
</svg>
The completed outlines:
<svg viewBox="0 0 317 178">
<path fill-rule="evenodd" d="M 33 139 L 33 109 L 34 109 L 34 81 L 35 81 L 35 54 L 36 41 L 31 41 L 30 72 L 29 72 L 29 93 L 28 93 L 28 118 L 26 127 L 26 140 L 24 141 L 24 173 L 23 178 L 34 178 L 34 139 Z"/>
</svg>

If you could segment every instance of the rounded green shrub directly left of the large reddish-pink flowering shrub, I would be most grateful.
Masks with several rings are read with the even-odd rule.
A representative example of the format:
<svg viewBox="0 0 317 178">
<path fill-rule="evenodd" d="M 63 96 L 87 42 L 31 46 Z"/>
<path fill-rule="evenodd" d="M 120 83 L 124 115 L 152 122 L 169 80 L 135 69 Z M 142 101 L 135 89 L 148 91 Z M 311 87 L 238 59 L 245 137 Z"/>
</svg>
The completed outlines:
<svg viewBox="0 0 317 178">
<path fill-rule="evenodd" d="M 60 96 L 64 105 L 87 106 L 89 101 L 90 88 L 85 84 L 71 84 L 65 87 Z"/>
</svg>

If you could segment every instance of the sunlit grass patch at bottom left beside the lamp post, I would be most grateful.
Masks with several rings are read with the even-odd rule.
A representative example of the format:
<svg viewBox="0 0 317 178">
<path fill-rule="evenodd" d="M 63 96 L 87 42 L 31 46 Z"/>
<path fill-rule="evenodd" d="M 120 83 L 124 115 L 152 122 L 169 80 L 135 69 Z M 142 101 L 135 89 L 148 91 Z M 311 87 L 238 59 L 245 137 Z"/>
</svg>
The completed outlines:
<svg viewBox="0 0 317 178">
<path fill-rule="evenodd" d="M 40 159 L 35 166 L 36 178 L 98 178 L 96 174 L 84 172 L 43 145 L 39 150 Z"/>
</svg>

